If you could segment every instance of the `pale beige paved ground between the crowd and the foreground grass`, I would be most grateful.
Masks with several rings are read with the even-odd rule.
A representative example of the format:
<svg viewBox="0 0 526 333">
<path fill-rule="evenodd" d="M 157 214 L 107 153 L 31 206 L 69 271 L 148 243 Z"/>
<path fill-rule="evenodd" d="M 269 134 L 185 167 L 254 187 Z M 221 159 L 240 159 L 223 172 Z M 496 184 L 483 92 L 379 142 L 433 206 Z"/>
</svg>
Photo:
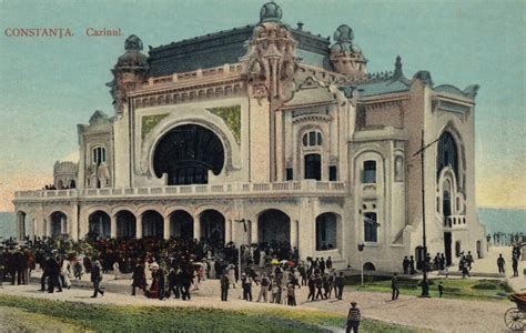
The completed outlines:
<svg viewBox="0 0 526 333">
<path fill-rule="evenodd" d="M 496 256 L 503 252 L 509 256 L 509 249 L 493 249 L 485 260 L 475 262 L 474 271 L 494 272 L 496 270 Z M 507 253 L 507 254 L 505 254 Z M 520 262 L 523 268 L 525 262 Z M 492 269 L 493 265 L 493 269 Z M 517 290 L 524 289 L 524 276 L 509 278 L 510 263 L 507 263 L 507 279 L 514 283 Z M 88 280 L 89 276 L 84 275 Z M 161 306 L 203 306 L 203 307 L 221 307 L 221 309 L 261 309 L 261 306 L 284 306 L 276 304 L 263 304 L 256 302 L 246 302 L 241 300 L 240 289 L 231 290 L 229 302 L 220 301 L 220 285 L 216 280 L 204 281 L 200 290 L 192 292 L 192 300 L 183 302 L 180 300 L 150 300 L 142 295 L 130 295 L 130 280 L 112 280 L 112 275 L 105 275 L 103 286 L 107 294 L 103 297 L 91 299 L 91 291 L 85 286 L 89 284 L 83 282 L 84 287 L 73 287 L 62 293 L 41 293 L 38 291 L 37 284 L 27 286 L 6 285 L 0 289 L 1 294 L 22 295 L 31 297 L 44 297 L 51 300 L 77 301 L 85 303 L 102 303 L 118 305 L 161 305 Z M 259 287 L 254 286 L 253 295 L 257 297 Z M 308 311 L 316 309 L 321 311 L 335 312 L 345 315 L 351 301 L 356 301 L 362 309 L 364 317 L 381 320 L 396 324 L 403 324 L 414 327 L 429 329 L 437 332 L 506 332 L 504 324 L 504 313 L 513 304 L 506 302 L 482 302 L 482 301 L 464 301 L 452 299 L 419 299 L 414 296 L 401 295 L 398 301 L 392 302 L 391 295 L 386 293 L 356 292 L 346 291 L 344 301 L 326 300 L 305 302 L 307 295 L 306 287 L 297 291 L 296 299 L 299 309 Z M 0 310 L 1 312 L 1 310 Z M 0 322 L 4 316 L 0 316 Z M 1 329 L 1 324 L 0 324 Z"/>
</svg>

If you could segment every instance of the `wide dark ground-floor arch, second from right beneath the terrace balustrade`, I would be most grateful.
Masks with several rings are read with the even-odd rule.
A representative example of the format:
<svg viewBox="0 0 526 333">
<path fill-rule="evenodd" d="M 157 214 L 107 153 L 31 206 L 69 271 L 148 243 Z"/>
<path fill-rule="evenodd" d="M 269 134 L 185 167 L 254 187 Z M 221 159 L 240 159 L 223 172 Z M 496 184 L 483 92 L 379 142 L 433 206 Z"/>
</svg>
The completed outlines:
<svg viewBox="0 0 526 333">
<path fill-rule="evenodd" d="M 257 242 L 267 244 L 290 244 L 291 219 L 280 210 L 267 210 L 257 218 Z"/>
</svg>

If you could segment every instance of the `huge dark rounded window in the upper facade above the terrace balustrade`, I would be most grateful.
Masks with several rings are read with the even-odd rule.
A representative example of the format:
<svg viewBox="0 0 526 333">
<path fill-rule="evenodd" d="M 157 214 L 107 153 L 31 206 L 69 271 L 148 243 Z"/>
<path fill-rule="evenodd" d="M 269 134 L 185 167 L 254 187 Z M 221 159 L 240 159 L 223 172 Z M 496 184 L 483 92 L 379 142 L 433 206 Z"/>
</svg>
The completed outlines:
<svg viewBox="0 0 526 333">
<path fill-rule="evenodd" d="M 198 124 L 180 125 L 168 132 L 153 158 L 156 176 L 166 173 L 169 185 L 206 184 L 209 171 L 218 175 L 223 164 L 223 143 L 214 132 Z"/>
</svg>

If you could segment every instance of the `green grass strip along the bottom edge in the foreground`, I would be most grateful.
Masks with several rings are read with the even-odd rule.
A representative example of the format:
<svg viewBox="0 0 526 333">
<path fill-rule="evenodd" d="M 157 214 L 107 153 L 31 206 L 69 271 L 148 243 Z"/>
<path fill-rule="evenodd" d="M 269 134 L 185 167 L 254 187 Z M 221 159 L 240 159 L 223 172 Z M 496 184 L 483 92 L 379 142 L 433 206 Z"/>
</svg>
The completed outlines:
<svg viewBox="0 0 526 333">
<path fill-rule="evenodd" d="M 261 309 L 226 311 L 205 307 L 117 306 L 0 295 L 0 306 L 19 309 L 77 332 L 331 332 L 345 326 L 345 316 L 314 310 Z M 415 332 L 364 320 L 366 332 Z"/>
</svg>

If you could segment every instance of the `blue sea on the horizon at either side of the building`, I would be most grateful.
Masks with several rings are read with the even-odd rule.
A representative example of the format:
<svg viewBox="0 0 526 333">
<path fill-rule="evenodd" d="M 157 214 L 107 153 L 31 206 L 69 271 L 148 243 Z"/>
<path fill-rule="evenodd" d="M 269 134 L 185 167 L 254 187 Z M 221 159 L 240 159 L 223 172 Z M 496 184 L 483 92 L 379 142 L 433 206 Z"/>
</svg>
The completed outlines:
<svg viewBox="0 0 526 333">
<path fill-rule="evenodd" d="M 486 225 L 486 233 L 526 233 L 526 209 L 478 209 L 478 220 Z M 0 212 L 0 238 L 17 234 L 16 214 Z"/>
</svg>

